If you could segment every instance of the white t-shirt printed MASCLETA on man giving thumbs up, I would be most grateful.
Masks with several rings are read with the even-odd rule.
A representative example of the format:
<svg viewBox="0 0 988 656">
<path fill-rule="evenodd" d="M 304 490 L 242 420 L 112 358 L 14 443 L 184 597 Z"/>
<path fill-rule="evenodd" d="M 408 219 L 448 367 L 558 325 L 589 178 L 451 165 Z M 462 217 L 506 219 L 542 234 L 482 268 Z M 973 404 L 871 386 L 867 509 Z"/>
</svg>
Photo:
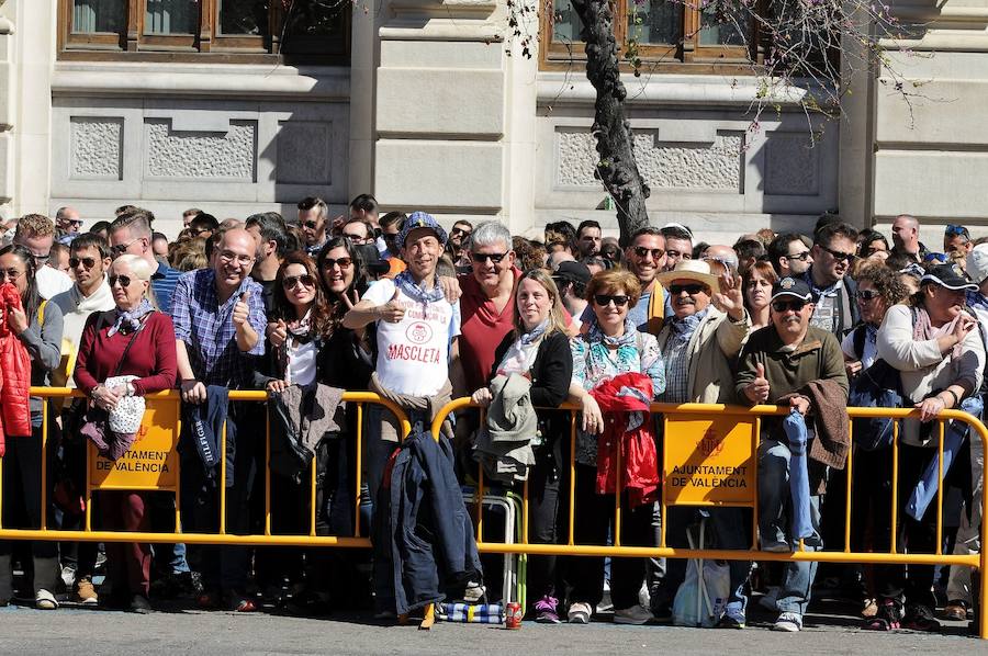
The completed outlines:
<svg viewBox="0 0 988 656">
<path fill-rule="evenodd" d="M 364 301 L 384 305 L 394 282 L 382 279 L 368 287 Z M 405 316 L 397 324 L 378 321 L 378 376 L 391 392 L 433 396 L 449 378 L 449 346 L 460 333 L 460 304 L 444 298 L 423 305 L 403 292 Z"/>
</svg>

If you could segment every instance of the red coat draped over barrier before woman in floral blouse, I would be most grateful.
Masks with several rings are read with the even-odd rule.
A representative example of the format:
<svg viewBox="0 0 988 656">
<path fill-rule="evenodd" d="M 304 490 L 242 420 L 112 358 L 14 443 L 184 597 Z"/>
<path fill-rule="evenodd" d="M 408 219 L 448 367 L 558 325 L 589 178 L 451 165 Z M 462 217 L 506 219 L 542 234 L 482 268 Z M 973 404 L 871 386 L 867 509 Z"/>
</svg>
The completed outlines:
<svg viewBox="0 0 988 656">
<path fill-rule="evenodd" d="M 617 485 L 618 445 L 621 446 L 621 487 L 630 505 L 659 498 L 659 452 L 649 407 L 652 380 L 624 373 L 590 391 L 604 415 L 604 433 L 597 438 L 597 494 L 614 494 Z M 642 415 L 638 415 L 641 412 Z"/>
</svg>

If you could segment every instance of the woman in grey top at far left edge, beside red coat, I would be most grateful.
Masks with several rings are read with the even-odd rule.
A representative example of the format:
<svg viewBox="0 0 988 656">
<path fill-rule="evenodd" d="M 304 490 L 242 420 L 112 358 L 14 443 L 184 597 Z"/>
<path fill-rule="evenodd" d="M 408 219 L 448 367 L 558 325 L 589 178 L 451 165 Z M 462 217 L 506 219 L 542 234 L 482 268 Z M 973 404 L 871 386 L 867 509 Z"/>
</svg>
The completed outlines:
<svg viewBox="0 0 988 656">
<path fill-rule="evenodd" d="M 11 245 L 0 249 L 0 289 L 20 297 L 20 307 L 13 304 L 0 307 L 0 324 L 26 349 L 31 358 L 31 385 L 49 385 L 49 375 L 61 359 L 61 310 L 54 303 L 44 301 L 34 278 L 35 262 L 30 250 Z M 10 290 L 8 285 L 13 285 Z M 0 363 L 3 366 L 8 364 Z M 0 464 L 3 467 L 3 517 L 5 528 L 41 528 L 42 480 L 50 480 L 42 473 L 42 399 L 31 397 L 30 434 L 11 434 L 5 428 L 7 452 Z M 48 449 L 48 457 L 54 455 Z M 48 499 L 50 499 L 48 495 Z M 0 606 L 7 606 L 13 597 L 13 570 L 11 552 L 13 543 L 0 541 Z M 30 543 L 34 561 L 32 592 L 36 608 L 58 608 L 55 600 L 55 580 L 58 565 L 58 547 L 54 542 L 34 540 Z"/>
</svg>

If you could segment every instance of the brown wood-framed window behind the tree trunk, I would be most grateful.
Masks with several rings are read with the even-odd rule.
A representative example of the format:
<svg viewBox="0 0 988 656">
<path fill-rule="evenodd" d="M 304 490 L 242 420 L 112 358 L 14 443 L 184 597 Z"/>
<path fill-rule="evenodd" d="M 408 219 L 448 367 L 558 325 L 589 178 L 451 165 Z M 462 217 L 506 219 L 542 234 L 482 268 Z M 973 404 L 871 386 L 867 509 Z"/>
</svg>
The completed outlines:
<svg viewBox="0 0 988 656">
<path fill-rule="evenodd" d="M 540 16 L 542 67 L 584 61 L 580 16 L 570 0 L 552 0 L 551 7 L 551 12 L 542 11 Z M 719 23 L 703 9 L 672 0 L 614 0 L 611 7 L 618 46 L 625 48 L 629 38 L 636 41 L 645 69 L 696 70 L 707 65 L 714 71 L 719 65 L 746 65 L 761 56 L 754 23 Z M 624 64 L 624 49 L 620 57 Z"/>
</svg>

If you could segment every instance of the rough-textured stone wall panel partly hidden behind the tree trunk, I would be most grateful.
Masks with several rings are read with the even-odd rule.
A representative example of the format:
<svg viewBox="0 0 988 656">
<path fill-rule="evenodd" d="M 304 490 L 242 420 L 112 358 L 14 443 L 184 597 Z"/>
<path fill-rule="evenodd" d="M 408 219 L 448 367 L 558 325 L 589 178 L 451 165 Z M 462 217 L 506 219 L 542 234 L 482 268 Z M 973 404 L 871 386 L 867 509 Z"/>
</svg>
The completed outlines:
<svg viewBox="0 0 988 656">
<path fill-rule="evenodd" d="M 698 189 L 741 193 L 742 133 L 717 133 L 714 143 L 660 142 L 658 131 L 635 133 L 638 168 L 652 189 Z M 598 156 L 590 132 L 557 132 L 559 186 L 598 186 Z"/>
</svg>

